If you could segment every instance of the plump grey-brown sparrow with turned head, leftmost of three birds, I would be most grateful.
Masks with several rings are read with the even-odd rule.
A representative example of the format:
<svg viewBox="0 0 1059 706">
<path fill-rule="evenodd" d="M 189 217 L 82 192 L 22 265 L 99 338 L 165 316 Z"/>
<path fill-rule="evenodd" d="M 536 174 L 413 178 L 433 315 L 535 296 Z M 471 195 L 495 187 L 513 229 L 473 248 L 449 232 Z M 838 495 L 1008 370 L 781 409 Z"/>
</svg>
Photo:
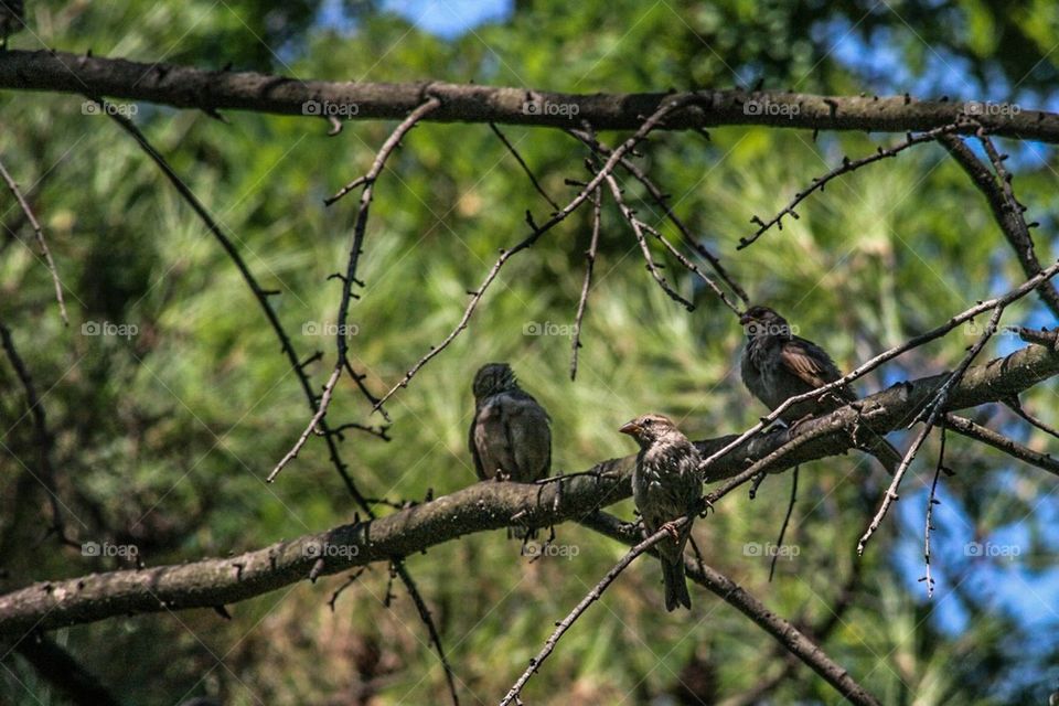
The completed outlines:
<svg viewBox="0 0 1059 706">
<path fill-rule="evenodd" d="M 489 363 L 474 375 L 474 419 L 468 447 L 479 480 L 532 483 L 552 470 L 552 419 L 518 387 L 506 363 Z"/>
</svg>

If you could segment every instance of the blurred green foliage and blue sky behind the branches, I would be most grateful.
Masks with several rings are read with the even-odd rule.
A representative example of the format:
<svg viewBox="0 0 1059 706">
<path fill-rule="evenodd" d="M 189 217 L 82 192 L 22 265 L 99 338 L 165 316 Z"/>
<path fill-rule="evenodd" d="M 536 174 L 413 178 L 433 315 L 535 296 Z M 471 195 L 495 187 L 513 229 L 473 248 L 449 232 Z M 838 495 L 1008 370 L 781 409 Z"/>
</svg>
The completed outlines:
<svg viewBox="0 0 1059 706">
<path fill-rule="evenodd" d="M 1056 109 L 1059 20 L 1051 3 L 978 0 L 712 3 L 318 2 L 281 4 L 28 2 L 31 31 L 14 49 L 255 69 L 301 78 L 439 79 L 593 92 L 750 87 L 855 95 L 1010 100 Z M 65 286 L 71 327 L 57 315 L 32 229 L 9 195 L 0 211 L 0 321 L 33 375 L 54 434 L 58 495 L 77 542 L 136 544 L 150 566 L 255 549 L 353 520 L 354 505 L 324 443 L 309 445 L 271 485 L 264 478 L 309 414 L 272 331 L 229 259 L 159 170 L 118 127 L 85 115 L 71 95 L 4 92 L 0 159 L 42 221 Z M 364 173 L 393 128 L 139 105 L 135 121 L 224 224 L 322 384 L 355 196 L 322 199 Z M 576 193 L 586 150 L 555 130 L 504 128 L 547 192 Z M 603 133 L 616 143 L 621 136 Z M 725 128 L 710 140 L 656 135 L 641 164 L 673 194 L 676 212 L 759 301 L 783 311 L 845 370 L 1025 279 L 965 175 L 935 146 L 910 150 L 828 186 L 782 232 L 741 252 L 749 220 L 769 217 L 844 154 L 901 136 Z M 1004 142 L 1016 189 L 1042 227 L 1042 261 L 1057 255 L 1056 154 Z M 622 175 L 640 215 L 675 233 Z M 382 393 L 459 321 L 467 290 L 525 235 L 524 212 L 550 207 L 482 125 L 416 128 L 376 188 L 351 310 L 351 347 Z M 466 450 L 470 379 L 482 363 L 511 362 L 554 419 L 554 470 L 579 471 L 631 453 L 616 432 L 630 417 L 673 416 L 693 438 L 738 432 L 764 408 L 736 370 L 735 318 L 659 248 L 666 276 L 697 304 L 687 313 L 659 290 L 608 200 L 582 330 L 577 381 L 568 335 L 533 324 L 573 323 L 590 237 L 582 210 L 520 254 L 469 330 L 399 392 L 389 443 L 350 432 L 342 450 L 365 494 L 420 500 L 474 480 Z M 1051 239 L 1049 239 L 1051 238 Z M 657 245 L 657 244 L 654 244 Z M 1006 323 L 1052 325 L 1034 299 Z M 136 327 L 129 338 L 83 325 Z M 545 324 L 554 324 L 548 327 Z M 860 391 L 953 366 L 973 342 L 958 329 L 863 381 Z M 1021 345 L 998 336 L 990 356 Z M 983 355 L 983 361 L 986 356 Z M 1053 382 L 1024 404 L 1059 421 Z M 124 566 L 42 539 L 50 509 L 34 479 L 24 393 L 0 362 L 0 587 Z M 378 422 L 349 379 L 329 419 Z M 1049 440 L 1002 408 L 976 419 L 1046 450 Z M 894 435 L 898 443 L 902 435 Z M 1050 440 L 1053 445 L 1053 439 Z M 1052 449 L 1055 446 L 1051 447 Z M 950 437 L 942 504 L 934 511 L 927 598 L 922 534 L 937 434 L 906 481 L 903 502 L 855 559 L 856 538 L 880 498 L 881 471 L 860 454 L 801 470 L 785 538 L 798 556 L 769 563 L 789 475 L 758 499 L 726 498 L 698 522 L 706 560 L 780 614 L 820 625 L 845 606 L 824 649 L 887 704 L 1044 704 L 1059 687 L 1055 479 Z M 631 518 L 631 503 L 612 507 Z M 381 509 L 382 512 L 387 512 Z M 1018 556 L 969 556 L 969 543 Z M 407 561 L 442 632 L 463 703 L 495 703 L 552 629 L 624 552 L 576 525 L 556 543 L 575 557 L 528 563 L 504 532 L 479 534 Z M 573 552 L 568 552 L 570 554 Z M 1008 552 L 1010 554 L 1012 552 Z M 213 611 L 119 618 L 53 634 L 128 704 L 426 704 L 445 700 L 439 663 L 404 587 L 375 566 L 332 610 L 341 576 L 302 582 Z M 738 700 L 788 668 L 775 644 L 726 603 L 693 588 L 694 609 L 662 609 L 657 565 L 627 571 L 567 634 L 525 692 L 527 703 L 823 704 L 838 696 L 795 665 L 759 702 Z M 383 602 L 387 590 L 394 598 Z M 0 670 L 0 700 L 61 704 L 20 657 Z M 725 700 L 737 699 L 737 700 Z"/>
</svg>

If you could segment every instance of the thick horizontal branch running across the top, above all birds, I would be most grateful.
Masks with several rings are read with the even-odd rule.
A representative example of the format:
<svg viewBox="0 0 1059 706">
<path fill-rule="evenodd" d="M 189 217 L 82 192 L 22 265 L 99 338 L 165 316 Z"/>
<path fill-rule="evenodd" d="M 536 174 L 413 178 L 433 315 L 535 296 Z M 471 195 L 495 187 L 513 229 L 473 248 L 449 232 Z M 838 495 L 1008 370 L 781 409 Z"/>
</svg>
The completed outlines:
<svg viewBox="0 0 1059 706">
<path fill-rule="evenodd" d="M 448 84 L 373 84 L 300 81 L 252 72 L 204 71 L 172 64 L 79 56 L 52 51 L 8 51 L 0 55 L 0 88 L 92 94 L 146 100 L 178 108 L 253 110 L 327 118 L 333 111 L 351 119 L 404 118 L 427 97 L 441 100 L 429 119 L 437 122 L 498 122 L 637 129 L 644 116 L 682 94 L 560 94 L 523 88 Z M 961 116 L 974 117 L 992 135 L 1059 142 L 1059 115 L 1040 110 L 985 111 L 981 104 L 816 96 L 795 93 L 703 90 L 666 120 L 666 129 L 720 125 L 768 125 L 820 130 L 907 132 L 940 128 Z M 339 110 L 339 107 L 342 107 Z M 764 109 L 768 107 L 768 109 Z M 976 125 L 969 125 L 971 133 Z"/>
</svg>

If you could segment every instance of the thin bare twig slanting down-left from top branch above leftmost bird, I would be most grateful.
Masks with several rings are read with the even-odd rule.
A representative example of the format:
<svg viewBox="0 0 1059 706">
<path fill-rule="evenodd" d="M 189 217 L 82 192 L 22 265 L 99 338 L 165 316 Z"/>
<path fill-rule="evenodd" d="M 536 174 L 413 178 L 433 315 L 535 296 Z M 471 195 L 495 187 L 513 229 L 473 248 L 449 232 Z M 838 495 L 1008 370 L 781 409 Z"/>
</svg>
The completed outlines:
<svg viewBox="0 0 1059 706">
<path fill-rule="evenodd" d="M 606 179 L 606 176 L 613 171 L 614 167 L 618 164 L 618 161 L 622 158 L 623 154 L 625 154 L 627 152 L 632 150 L 637 145 L 639 145 L 644 138 L 648 137 L 648 135 L 652 130 L 662 126 L 664 119 L 668 115 L 680 110 L 681 108 L 686 107 L 689 103 L 693 103 L 693 101 L 694 101 L 693 99 L 685 97 L 683 99 L 674 99 L 674 100 L 667 100 L 663 103 L 662 107 L 660 107 L 654 114 L 651 115 L 651 117 L 644 120 L 640 125 L 640 128 L 629 139 L 622 142 L 621 146 L 613 151 L 613 153 L 611 153 L 610 158 L 603 163 L 599 172 L 588 182 L 588 184 L 586 184 L 585 188 L 581 189 L 581 191 L 576 196 L 574 196 L 574 199 L 568 204 L 566 204 L 566 206 L 564 206 L 558 212 L 553 214 L 552 217 L 544 223 L 544 225 L 537 226 L 533 222 L 533 218 L 527 213 L 526 221 L 528 222 L 530 229 L 531 229 L 530 235 L 526 236 L 520 243 L 517 243 L 511 249 L 502 249 L 500 252 L 500 257 L 496 258 L 495 263 L 493 263 L 493 266 L 490 268 L 489 272 L 485 275 L 485 279 L 483 279 L 482 282 L 478 286 L 478 289 L 470 292 L 471 299 L 467 303 L 467 307 L 463 310 L 463 315 L 460 318 L 459 323 L 456 324 L 456 328 L 453 328 L 452 331 L 449 332 L 449 334 L 441 341 L 441 343 L 439 343 L 438 345 L 431 346 L 430 350 L 427 352 L 427 354 L 420 357 L 408 370 L 408 372 L 405 373 L 404 377 L 400 378 L 400 382 L 398 382 L 396 385 L 391 387 L 389 391 L 385 395 L 383 395 L 382 399 L 379 399 L 379 402 L 376 404 L 376 407 L 385 403 L 387 399 L 389 399 L 398 389 L 403 387 L 407 387 L 408 383 L 416 375 L 416 373 L 418 373 L 422 368 L 422 366 L 429 363 L 436 355 L 441 353 L 441 351 L 447 349 L 449 344 L 452 343 L 453 340 L 456 340 L 456 338 L 460 334 L 460 332 L 462 332 L 467 328 L 467 323 L 468 321 L 470 321 L 471 314 L 474 313 L 474 310 L 478 308 L 479 302 L 481 302 L 482 297 L 485 296 L 485 290 L 493 282 L 493 280 L 496 279 L 496 276 L 500 274 L 501 268 L 503 268 L 504 264 L 509 259 L 511 259 L 513 256 L 517 255 L 522 250 L 533 246 L 533 244 L 536 243 L 541 238 L 541 236 L 543 236 L 553 227 L 555 227 L 556 225 L 565 221 L 567 216 L 569 216 L 574 211 L 576 211 L 582 203 L 588 201 L 588 199 L 592 195 L 592 193 L 600 185 L 600 183 L 602 183 L 603 179 Z"/>
</svg>

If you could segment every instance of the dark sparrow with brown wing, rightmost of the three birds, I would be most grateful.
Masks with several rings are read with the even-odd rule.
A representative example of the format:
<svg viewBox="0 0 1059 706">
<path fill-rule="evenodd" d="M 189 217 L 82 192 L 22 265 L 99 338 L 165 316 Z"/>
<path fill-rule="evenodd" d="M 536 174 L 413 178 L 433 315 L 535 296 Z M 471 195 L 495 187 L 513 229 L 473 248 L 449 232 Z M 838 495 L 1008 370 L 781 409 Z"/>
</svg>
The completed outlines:
<svg viewBox="0 0 1059 706">
<path fill-rule="evenodd" d="M 742 383 L 750 394 L 775 409 L 789 398 L 812 392 L 842 377 L 838 366 L 824 349 L 812 341 L 793 335 L 787 319 L 768 307 L 755 306 L 739 317 L 747 334 L 747 345 L 740 364 Z M 853 388 L 843 385 L 820 399 L 806 399 L 791 405 L 780 419 L 788 426 L 820 414 L 834 411 L 856 402 Z M 867 432 L 857 448 L 867 451 L 894 474 L 902 456 L 886 439 Z"/>
</svg>

